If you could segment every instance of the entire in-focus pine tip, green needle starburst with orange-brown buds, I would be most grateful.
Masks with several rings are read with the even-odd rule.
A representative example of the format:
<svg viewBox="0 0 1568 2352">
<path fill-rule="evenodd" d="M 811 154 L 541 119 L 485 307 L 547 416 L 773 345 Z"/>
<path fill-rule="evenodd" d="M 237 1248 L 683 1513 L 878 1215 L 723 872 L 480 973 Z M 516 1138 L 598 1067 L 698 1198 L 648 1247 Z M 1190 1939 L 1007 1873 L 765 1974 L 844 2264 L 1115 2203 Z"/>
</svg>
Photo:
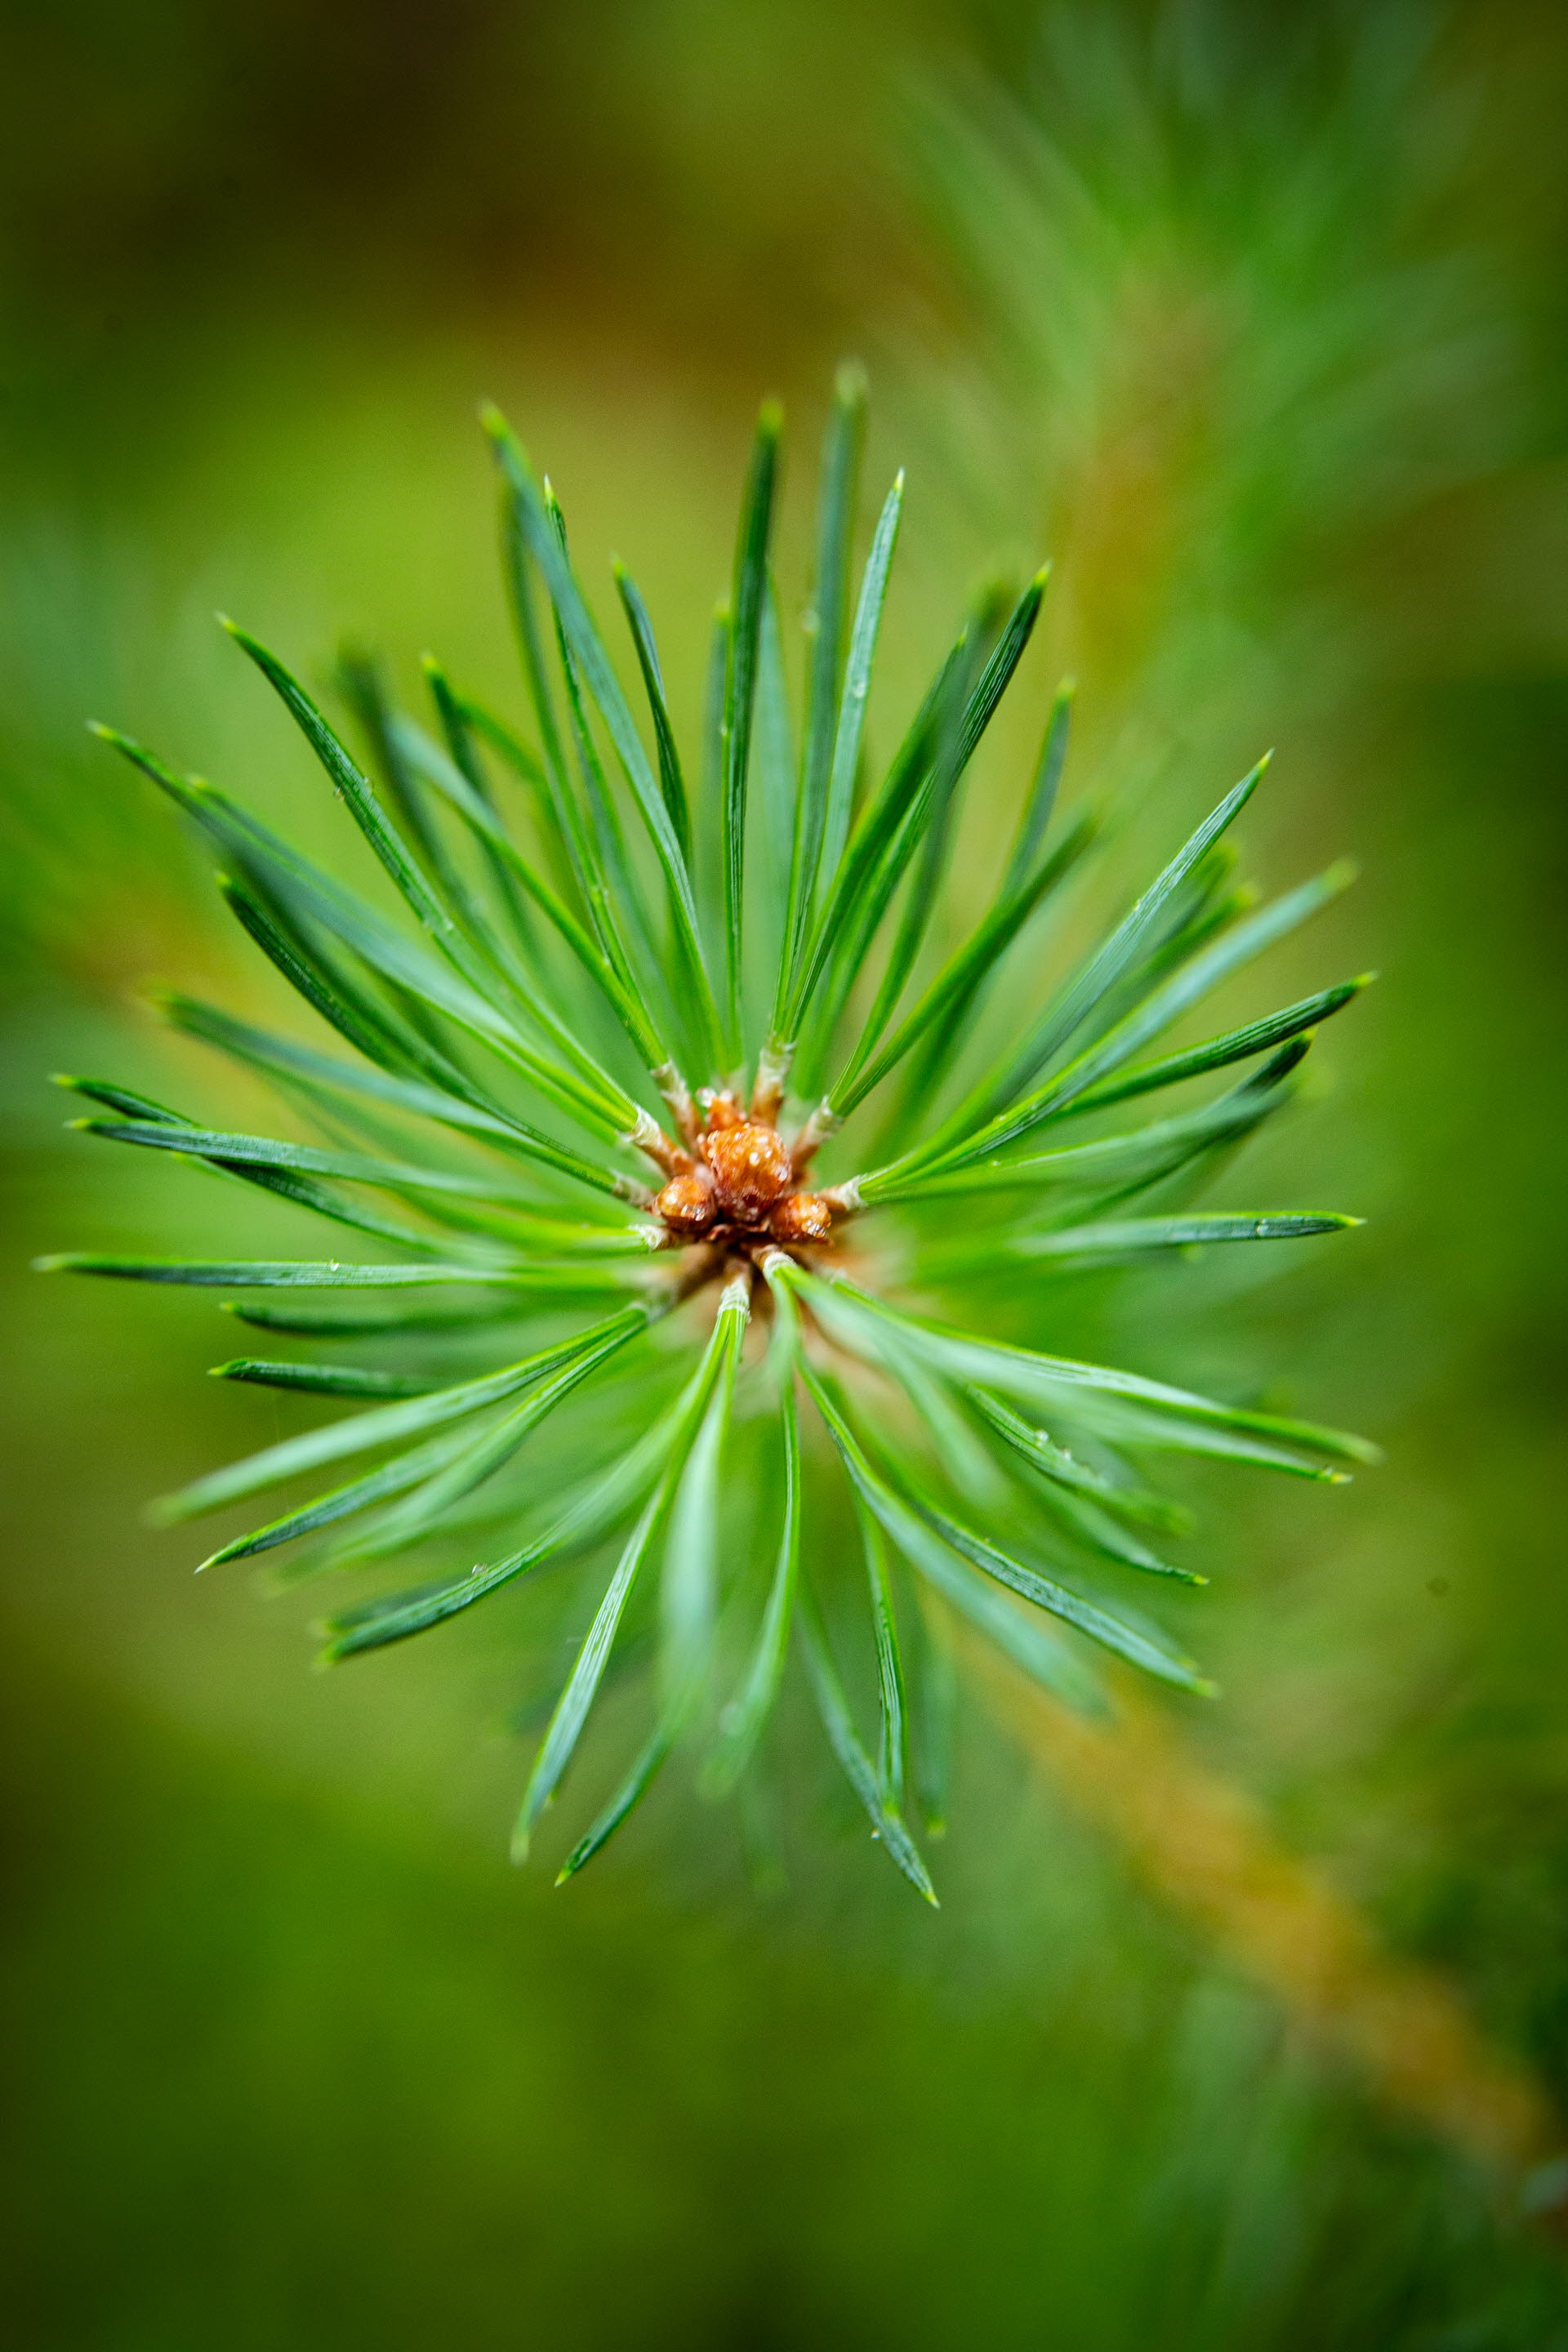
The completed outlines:
<svg viewBox="0 0 1568 2352">
<path fill-rule="evenodd" d="M 45 1263 L 240 1294 L 226 1301 L 240 1322 L 310 1352 L 235 1357 L 219 1376 L 350 1404 L 162 1505 L 186 1519 L 301 1491 L 207 1566 L 289 1548 L 289 1573 L 317 1573 L 430 1545 L 433 1576 L 327 1618 L 329 1661 L 550 1564 L 604 1562 L 571 1670 L 538 1710 L 520 1856 L 611 1675 L 637 1677 L 644 1731 L 564 1877 L 675 1750 L 701 1755 L 708 1795 L 736 1788 L 797 1658 L 877 1839 L 933 1900 L 917 1832 L 945 1811 L 954 1628 L 1072 1705 L 1105 1705 L 1095 1651 L 1206 1691 L 1117 1592 L 1201 1583 L 1166 1557 L 1185 1519 L 1143 1458 L 1328 1482 L 1371 1458 L 1316 1423 L 999 1336 L 1020 1312 L 1046 1336 L 1053 1287 L 1084 1265 L 1354 1223 L 1206 1211 L 1192 1195 L 1291 1101 L 1319 1025 L 1361 981 L 1161 1044 L 1347 870 L 1265 906 L 1234 884 L 1225 835 L 1260 764 L 1041 985 L 1098 833 L 1091 814 L 1058 818 L 1070 687 L 969 929 L 950 877 L 966 779 L 1046 574 L 978 600 L 875 762 L 865 722 L 903 475 L 853 586 L 860 379 L 842 376 L 827 426 L 799 724 L 769 560 L 780 419 L 764 409 L 691 767 L 635 581 L 616 567 L 642 720 L 548 480 L 496 414 L 487 428 L 524 724 L 435 661 L 418 720 L 348 654 L 339 687 L 362 760 L 284 663 L 226 623 L 395 913 L 386 889 L 376 903 L 216 786 L 99 729 L 212 847 L 237 922 L 329 1037 L 165 995 L 162 1016 L 270 1080 L 308 1138 L 221 1131 L 66 1077 L 96 1105 L 80 1124 L 348 1228 L 360 1254 Z M 1185 1089 L 1211 1073 L 1232 1077 L 1194 1103 Z M 1121 1105 L 1171 1089 L 1185 1108 L 1121 1122 Z M 823 1183 L 832 1155 L 844 1174 Z M 440 1564 L 475 1536 L 477 1562 Z"/>
</svg>

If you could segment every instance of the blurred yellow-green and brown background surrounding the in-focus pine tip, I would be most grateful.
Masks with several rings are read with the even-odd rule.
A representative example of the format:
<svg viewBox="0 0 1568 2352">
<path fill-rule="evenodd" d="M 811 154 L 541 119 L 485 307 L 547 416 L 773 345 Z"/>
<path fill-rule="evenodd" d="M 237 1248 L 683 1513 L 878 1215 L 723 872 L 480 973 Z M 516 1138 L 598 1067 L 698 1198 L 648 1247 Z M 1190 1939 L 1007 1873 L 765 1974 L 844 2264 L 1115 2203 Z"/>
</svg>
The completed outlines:
<svg viewBox="0 0 1568 2352">
<path fill-rule="evenodd" d="M 7 0 L 0 31 L 7 2340 L 1568 2345 L 1561 12 Z M 555 1893 L 505 1863 L 512 1717 L 578 1588 L 313 1677 L 317 1602 L 193 1583 L 200 1534 L 141 1517 L 296 1409 L 202 1378 L 233 1338 L 200 1294 L 26 1270 L 310 1254 L 61 1131 L 49 1070 L 242 1101 L 139 983 L 277 1009 L 82 720 L 357 875 L 212 612 L 315 680 L 353 633 L 520 708 L 489 395 L 602 612 L 607 555 L 635 569 L 691 736 L 755 402 L 790 414 L 795 621 L 844 353 L 865 529 L 910 468 L 877 748 L 976 583 L 1056 562 L 959 898 L 1065 670 L 1070 793 L 1121 823 L 1103 906 L 1267 743 L 1248 868 L 1361 861 L 1225 1002 L 1382 967 L 1215 1204 L 1368 1223 L 1063 1284 L 1060 1331 L 1389 1461 L 1192 1489 L 1213 1583 L 1168 1623 L 1222 1698 L 1168 1710 L 1164 1820 L 966 1679 L 940 1912 L 804 1719 L 783 1889 L 670 1771 Z M 1441 2096 L 1401 2096 L 1396 1994 L 1368 2065 L 1354 1969 L 1279 1990 L 1267 1872 L 1182 1900 L 1192 1776 L 1469 2020 Z M 1535 2117 L 1502 2154 L 1486 2067 Z"/>
</svg>

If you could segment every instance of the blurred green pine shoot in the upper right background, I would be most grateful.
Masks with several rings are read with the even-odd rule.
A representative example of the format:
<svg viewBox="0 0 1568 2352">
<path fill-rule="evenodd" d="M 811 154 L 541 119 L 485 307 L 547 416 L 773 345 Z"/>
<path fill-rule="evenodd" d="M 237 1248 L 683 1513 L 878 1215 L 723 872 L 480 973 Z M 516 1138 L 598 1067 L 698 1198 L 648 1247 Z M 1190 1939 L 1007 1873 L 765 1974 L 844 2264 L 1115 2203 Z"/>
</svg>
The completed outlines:
<svg viewBox="0 0 1568 2352">
<path fill-rule="evenodd" d="M 924 111 L 971 296 L 952 456 L 1063 550 L 1074 661 L 1187 741 L 1281 691 L 1321 724 L 1415 666 L 1561 661 L 1561 320 L 1521 299 L 1549 181 L 1497 216 L 1544 99 L 1519 38 L 1490 75 L 1476 40 L 1422 7 L 1058 7 L 1013 87 Z"/>
</svg>

